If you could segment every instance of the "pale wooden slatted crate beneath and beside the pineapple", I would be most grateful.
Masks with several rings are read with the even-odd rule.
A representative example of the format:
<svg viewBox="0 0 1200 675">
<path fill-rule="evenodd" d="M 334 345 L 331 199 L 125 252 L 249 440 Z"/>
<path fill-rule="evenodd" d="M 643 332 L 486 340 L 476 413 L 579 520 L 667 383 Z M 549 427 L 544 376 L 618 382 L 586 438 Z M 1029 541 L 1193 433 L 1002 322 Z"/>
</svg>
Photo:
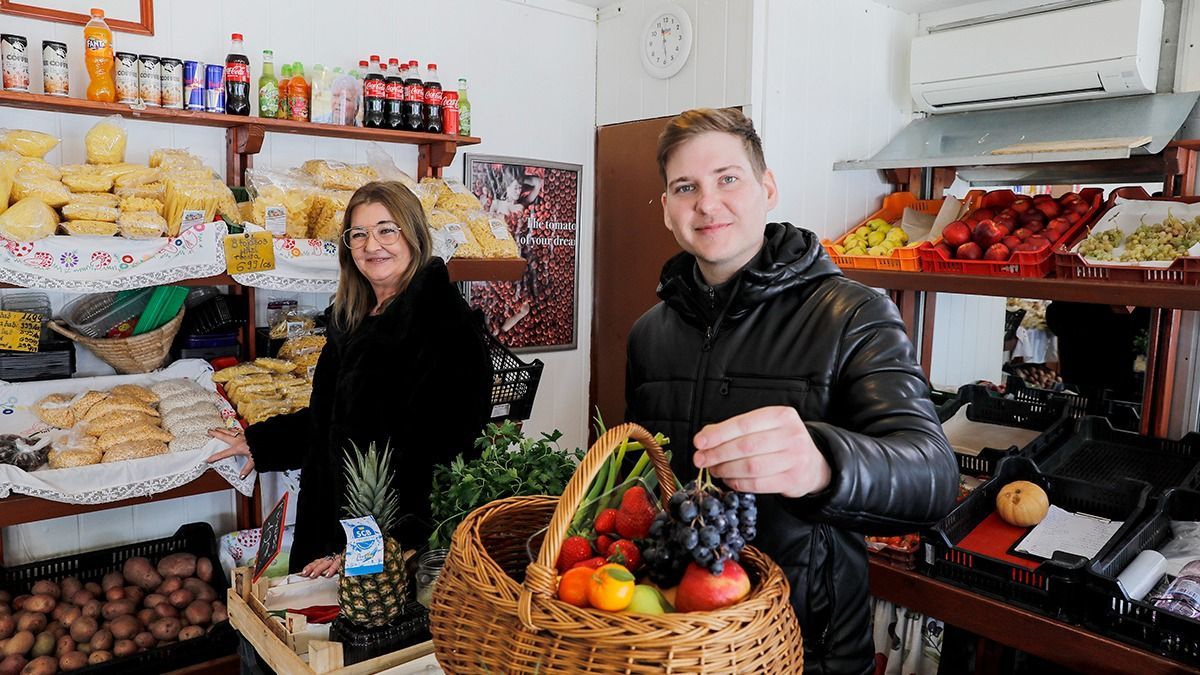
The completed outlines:
<svg viewBox="0 0 1200 675">
<path fill-rule="evenodd" d="M 251 583 L 253 573 L 248 567 L 234 569 L 227 603 L 229 621 L 254 646 L 259 658 L 276 673 L 366 675 L 433 653 L 433 643 L 426 641 L 346 665 L 342 661 L 342 643 L 308 640 L 304 635 L 307 627 L 304 615 L 288 613 L 282 621 L 271 616 L 263 602 L 270 580 L 263 578 L 258 583 Z M 307 662 L 302 658 L 305 653 L 308 655 Z"/>
</svg>

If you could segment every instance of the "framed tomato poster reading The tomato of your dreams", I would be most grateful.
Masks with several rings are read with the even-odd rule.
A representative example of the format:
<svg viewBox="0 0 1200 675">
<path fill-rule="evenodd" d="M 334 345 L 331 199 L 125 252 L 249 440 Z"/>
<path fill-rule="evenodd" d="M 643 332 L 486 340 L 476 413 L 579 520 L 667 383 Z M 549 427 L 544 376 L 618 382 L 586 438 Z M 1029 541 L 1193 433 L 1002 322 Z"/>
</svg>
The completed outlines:
<svg viewBox="0 0 1200 675">
<path fill-rule="evenodd" d="M 504 220 L 528 262 L 520 281 L 470 282 L 470 304 L 514 351 L 574 350 L 583 167 L 472 154 L 463 160 L 463 183 Z"/>
</svg>

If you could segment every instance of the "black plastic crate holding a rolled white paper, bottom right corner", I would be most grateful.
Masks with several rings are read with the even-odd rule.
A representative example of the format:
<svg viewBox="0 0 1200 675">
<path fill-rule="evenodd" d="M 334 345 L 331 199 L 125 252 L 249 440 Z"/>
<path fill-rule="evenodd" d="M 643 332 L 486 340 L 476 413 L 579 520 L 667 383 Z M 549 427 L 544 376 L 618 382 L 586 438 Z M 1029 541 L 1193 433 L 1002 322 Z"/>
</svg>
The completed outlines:
<svg viewBox="0 0 1200 675">
<path fill-rule="evenodd" d="M 1171 540 L 1171 520 L 1200 520 L 1200 492 L 1168 491 L 1148 518 L 1088 565 L 1091 593 L 1084 623 L 1102 635 L 1200 668 L 1200 621 L 1157 608 L 1147 602 L 1150 596 L 1129 599 L 1117 584 L 1117 575 L 1138 554 Z"/>
</svg>

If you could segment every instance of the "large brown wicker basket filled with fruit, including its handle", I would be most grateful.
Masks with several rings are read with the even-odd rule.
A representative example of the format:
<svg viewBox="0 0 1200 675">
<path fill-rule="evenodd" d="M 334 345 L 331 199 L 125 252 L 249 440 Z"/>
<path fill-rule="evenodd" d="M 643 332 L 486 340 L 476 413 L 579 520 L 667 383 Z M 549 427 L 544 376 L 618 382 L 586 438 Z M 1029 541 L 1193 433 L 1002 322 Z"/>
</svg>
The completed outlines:
<svg viewBox="0 0 1200 675">
<path fill-rule="evenodd" d="M 623 614 L 556 597 L 554 561 L 575 509 L 625 438 L 646 446 L 666 503 L 674 477 L 662 449 L 635 424 L 601 436 L 562 498 L 510 497 L 475 509 L 455 531 L 438 577 L 430 627 L 446 673 L 800 673 L 800 627 L 787 580 L 754 548 L 742 565 L 754 583 L 740 603 L 714 611 Z M 546 522 L 550 527 L 546 528 Z M 538 560 L 527 539 L 546 530 Z"/>
</svg>

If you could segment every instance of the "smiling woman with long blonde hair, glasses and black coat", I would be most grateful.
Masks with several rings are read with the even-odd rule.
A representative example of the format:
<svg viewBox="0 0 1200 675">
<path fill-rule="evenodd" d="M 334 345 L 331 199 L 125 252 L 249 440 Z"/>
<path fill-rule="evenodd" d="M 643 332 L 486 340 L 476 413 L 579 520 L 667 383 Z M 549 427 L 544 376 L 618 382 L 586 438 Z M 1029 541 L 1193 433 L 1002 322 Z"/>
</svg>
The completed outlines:
<svg viewBox="0 0 1200 675">
<path fill-rule="evenodd" d="M 290 571 L 332 577 L 341 566 L 344 449 L 394 448 L 400 542 L 428 538 L 433 466 L 473 453 L 490 414 L 492 366 L 482 325 L 446 265 L 432 256 L 425 213 L 400 183 L 368 183 L 346 207 L 328 342 L 306 410 L 245 436 L 214 430 L 246 455 L 245 473 L 302 468 Z"/>
</svg>

